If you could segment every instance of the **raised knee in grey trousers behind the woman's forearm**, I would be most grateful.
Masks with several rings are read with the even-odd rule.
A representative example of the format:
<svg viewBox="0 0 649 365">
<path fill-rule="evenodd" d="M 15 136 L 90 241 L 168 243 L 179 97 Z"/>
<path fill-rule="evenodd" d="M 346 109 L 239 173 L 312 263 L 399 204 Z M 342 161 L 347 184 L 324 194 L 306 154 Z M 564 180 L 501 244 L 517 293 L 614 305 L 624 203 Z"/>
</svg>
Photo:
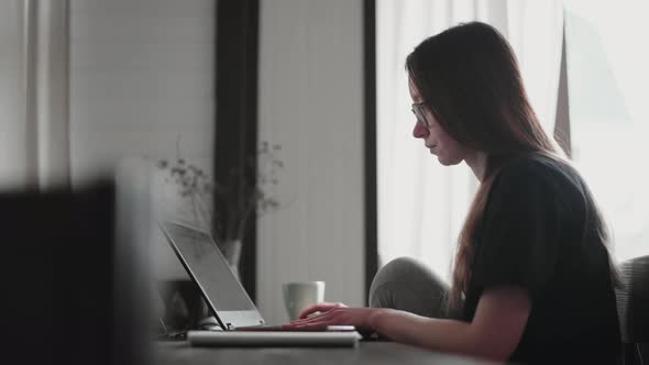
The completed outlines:
<svg viewBox="0 0 649 365">
<path fill-rule="evenodd" d="M 450 287 L 424 264 L 399 257 L 383 266 L 370 287 L 370 307 L 429 318 L 458 318 L 448 309 Z"/>
</svg>

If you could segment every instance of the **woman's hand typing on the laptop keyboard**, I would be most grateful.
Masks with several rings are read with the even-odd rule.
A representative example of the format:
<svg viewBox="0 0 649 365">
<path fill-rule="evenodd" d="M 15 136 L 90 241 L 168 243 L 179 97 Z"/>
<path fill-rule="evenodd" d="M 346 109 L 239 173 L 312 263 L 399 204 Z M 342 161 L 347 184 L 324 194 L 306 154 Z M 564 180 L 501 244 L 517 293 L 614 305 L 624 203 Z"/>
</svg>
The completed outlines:
<svg viewBox="0 0 649 365">
<path fill-rule="evenodd" d="M 305 309 L 300 319 L 284 324 L 287 329 L 321 330 L 328 325 L 353 325 L 358 331 L 372 330 L 371 319 L 377 308 L 349 308 L 343 303 L 319 303 Z M 310 316 L 315 312 L 319 314 Z"/>
</svg>

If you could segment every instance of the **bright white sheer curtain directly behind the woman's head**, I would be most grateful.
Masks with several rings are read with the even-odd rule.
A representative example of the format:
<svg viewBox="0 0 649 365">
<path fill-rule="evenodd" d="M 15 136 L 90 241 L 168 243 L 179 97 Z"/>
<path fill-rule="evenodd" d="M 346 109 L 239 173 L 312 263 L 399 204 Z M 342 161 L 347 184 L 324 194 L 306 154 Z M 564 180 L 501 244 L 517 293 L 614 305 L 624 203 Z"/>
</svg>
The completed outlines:
<svg viewBox="0 0 649 365">
<path fill-rule="evenodd" d="M 443 167 L 411 135 L 405 71 L 424 38 L 460 22 L 498 29 L 516 52 L 544 128 L 554 122 L 561 56 L 560 0 L 377 0 L 377 175 L 380 265 L 411 256 L 450 278 L 458 234 L 477 187 L 471 169 Z"/>
</svg>

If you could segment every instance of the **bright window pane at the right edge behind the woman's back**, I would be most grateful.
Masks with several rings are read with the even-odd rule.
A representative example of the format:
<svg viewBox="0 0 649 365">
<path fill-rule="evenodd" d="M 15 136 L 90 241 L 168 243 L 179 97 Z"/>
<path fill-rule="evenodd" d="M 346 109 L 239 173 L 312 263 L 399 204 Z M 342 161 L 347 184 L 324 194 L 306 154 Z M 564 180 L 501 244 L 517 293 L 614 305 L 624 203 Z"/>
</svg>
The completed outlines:
<svg viewBox="0 0 649 365">
<path fill-rule="evenodd" d="M 620 261 L 649 254 L 647 13 L 644 0 L 565 2 L 573 159 Z"/>
</svg>

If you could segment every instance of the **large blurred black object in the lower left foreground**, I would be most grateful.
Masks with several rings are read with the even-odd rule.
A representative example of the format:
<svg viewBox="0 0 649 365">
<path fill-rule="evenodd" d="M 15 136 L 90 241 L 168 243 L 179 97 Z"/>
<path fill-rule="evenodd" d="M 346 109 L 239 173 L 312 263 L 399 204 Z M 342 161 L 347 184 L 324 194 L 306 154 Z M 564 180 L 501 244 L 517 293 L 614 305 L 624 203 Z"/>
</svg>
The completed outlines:
<svg viewBox="0 0 649 365">
<path fill-rule="evenodd" d="M 150 203 L 138 165 L 75 189 L 0 192 L 3 360 L 147 363 Z"/>
</svg>

